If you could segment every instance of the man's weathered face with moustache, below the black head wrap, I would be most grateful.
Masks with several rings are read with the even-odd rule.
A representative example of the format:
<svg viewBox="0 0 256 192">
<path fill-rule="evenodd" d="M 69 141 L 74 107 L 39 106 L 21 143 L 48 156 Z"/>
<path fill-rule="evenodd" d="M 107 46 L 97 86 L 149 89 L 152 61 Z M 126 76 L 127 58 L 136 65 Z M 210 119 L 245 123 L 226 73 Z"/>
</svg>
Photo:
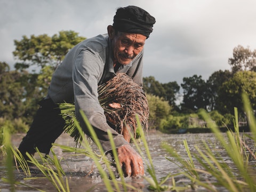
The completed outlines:
<svg viewBox="0 0 256 192">
<path fill-rule="evenodd" d="M 127 65 L 142 51 L 146 36 L 118 32 L 111 39 L 114 61 Z"/>
</svg>

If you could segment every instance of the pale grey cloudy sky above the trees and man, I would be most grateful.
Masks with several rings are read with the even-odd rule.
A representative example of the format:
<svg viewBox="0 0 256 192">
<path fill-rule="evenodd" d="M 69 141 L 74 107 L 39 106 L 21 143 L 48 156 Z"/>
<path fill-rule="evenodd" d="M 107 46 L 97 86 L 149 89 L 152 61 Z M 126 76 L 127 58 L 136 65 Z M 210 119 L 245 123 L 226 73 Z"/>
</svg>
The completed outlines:
<svg viewBox="0 0 256 192">
<path fill-rule="evenodd" d="M 14 39 L 74 30 L 90 38 L 107 33 L 117 7 L 140 6 L 156 18 L 146 40 L 143 76 L 182 83 L 183 77 L 230 70 L 242 45 L 256 49 L 255 0 L 0 0 L 0 62 L 12 68 Z"/>
</svg>

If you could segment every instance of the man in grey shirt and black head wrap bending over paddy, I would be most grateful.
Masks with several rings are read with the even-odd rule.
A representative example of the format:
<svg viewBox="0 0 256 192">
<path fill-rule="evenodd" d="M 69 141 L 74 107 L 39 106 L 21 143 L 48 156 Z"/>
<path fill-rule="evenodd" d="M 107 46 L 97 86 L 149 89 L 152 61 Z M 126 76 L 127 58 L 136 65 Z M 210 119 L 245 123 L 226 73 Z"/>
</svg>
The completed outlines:
<svg viewBox="0 0 256 192">
<path fill-rule="evenodd" d="M 49 154 L 52 143 L 63 132 L 64 120 L 58 103 L 75 102 L 76 117 L 84 132 L 90 135 L 79 110 L 83 110 L 93 126 L 103 149 L 111 150 L 107 130 L 113 134 L 119 162 L 125 176 L 143 175 L 140 155 L 125 141 L 123 135 L 111 129 L 98 101 L 98 85 L 105 83 L 115 73 L 125 73 L 142 85 L 143 46 L 153 31 L 155 18 L 137 6 L 117 9 L 113 26 L 107 27 L 108 35 L 85 39 L 71 49 L 55 70 L 47 97 L 39 102 L 39 109 L 19 150 Z M 113 103 L 110 107 L 118 107 Z"/>
</svg>

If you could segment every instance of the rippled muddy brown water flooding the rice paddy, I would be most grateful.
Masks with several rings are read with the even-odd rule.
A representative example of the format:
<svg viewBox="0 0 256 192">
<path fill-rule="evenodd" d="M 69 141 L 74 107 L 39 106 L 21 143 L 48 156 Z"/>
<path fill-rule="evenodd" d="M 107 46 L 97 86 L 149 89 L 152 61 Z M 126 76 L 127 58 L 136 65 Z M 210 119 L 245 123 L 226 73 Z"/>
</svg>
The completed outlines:
<svg viewBox="0 0 256 192">
<path fill-rule="evenodd" d="M 23 135 L 17 134 L 13 137 L 13 144 L 15 146 L 19 145 Z M 183 140 L 187 140 L 188 146 L 190 148 L 191 153 L 196 152 L 194 146 L 198 146 L 199 148 L 204 148 L 203 141 L 206 141 L 210 148 L 212 148 L 213 153 L 218 153 L 227 163 L 232 165 L 229 157 L 225 153 L 224 150 L 221 149 L 219 143 L 215 140 L 214 135 L 211 133 L 204 134 L 162 134 L 158 132 L 149 133 L 147 135 L 147 143 L 150 147 L 150 155 L 153 159 L 153 164 L 156 171 L 156 176 L 159 179 L 165 177 L 167 174 L 179 173 L 180 168 L 174 163 L 168 161 L 165 156 L 170 157 L 169 154 L 161 147 L 162 142 L 167 142 L 171 145 L 178 153 L 183 157 L 187 158 L 186 150 L 183 145 Z M 56 140 L 56 143 L 61 145 L 67 145 L 74 147 L 75 143 L 73 142 L 73 138 L 70 138 L 67 134 L 62 134 Z M 92 146 L 96 151 L 97 148 Z M 142 147 L 142 143 L 141 143 Z M 143 147 L 142 147 L 143 149 Z M 70 191 L 106 191 L 106 187 L 99 176 L 99 172 L 95 169 L 93 162 L 90 158 L 83 155 L 76 155 L 74 153 L 63 153 L 63 151 L 54 147 L 54 152 L 57 156 L 62 158 L 61 165 L 67 174 L 67 178 L 69 181 Z M 255 162 L 252 162 L 255 163 Z M 51 185 L 51 183 L 44 179 L 40 178 L 43 175 L 38 171 L 36 167 L 31 167 L 31 177 L 37 178 L 26 178 L 26 175 L 23 173 L 15 171 L 15 178 L 17 181 L 25 183 L 26 185 L 38 189 L 42 189 L 45 191 L 56 191 L 56 189 Z M 146 165 L 145 165 L 146 172 Z M 145 173 L 146 177 L 149 177 L 149 174 Z M 3 163 L 0 162 L 0 178 L 6 177 L 6 171 L 4 169 Z M 213 178 L 207 178 L 209 181 L 214 182 Z M 138 191 L 149 191 L 148 186 L 149 183 L 143 178 L 126 178 L 126 183 L 134 186 L 138 189 Z M 190 183 L 188 179 L 179 175 L 175 177 L 175 182 L 178 186 L 187 185 Z M 171 181 L 167 181 L 166 185 L 171 185 Z M 3 181 L 0 181 L 0 191 L 1 192 L 9 192 L 9 185 L 6 185 Z M 223 191 L 224 189 L 220 188 L 219 191 Z M 31 189 L 29 187 L 17 186 L 15 191 L 37 191 L 35 189 Z M 189 190 L 188 190 L 189 191 Z M 205 191 L 203 188 L 198 188 L 196 191 Z"/>
</svg>

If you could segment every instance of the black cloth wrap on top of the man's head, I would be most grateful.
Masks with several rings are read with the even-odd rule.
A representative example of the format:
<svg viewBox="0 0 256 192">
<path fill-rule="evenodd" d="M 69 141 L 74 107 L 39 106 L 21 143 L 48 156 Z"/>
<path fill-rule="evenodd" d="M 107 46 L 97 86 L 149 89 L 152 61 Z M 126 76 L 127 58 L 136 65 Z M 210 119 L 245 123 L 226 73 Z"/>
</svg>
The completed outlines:
<svg viewBox="0 0 256 192">
<path fill-rule="evenodd" d="M 145 35 L 153 31 L 156 20 L 147 11 L 137 6 L 118 8 L 114 16 L 113 27 L 121 32 Z"/>
</svg>

